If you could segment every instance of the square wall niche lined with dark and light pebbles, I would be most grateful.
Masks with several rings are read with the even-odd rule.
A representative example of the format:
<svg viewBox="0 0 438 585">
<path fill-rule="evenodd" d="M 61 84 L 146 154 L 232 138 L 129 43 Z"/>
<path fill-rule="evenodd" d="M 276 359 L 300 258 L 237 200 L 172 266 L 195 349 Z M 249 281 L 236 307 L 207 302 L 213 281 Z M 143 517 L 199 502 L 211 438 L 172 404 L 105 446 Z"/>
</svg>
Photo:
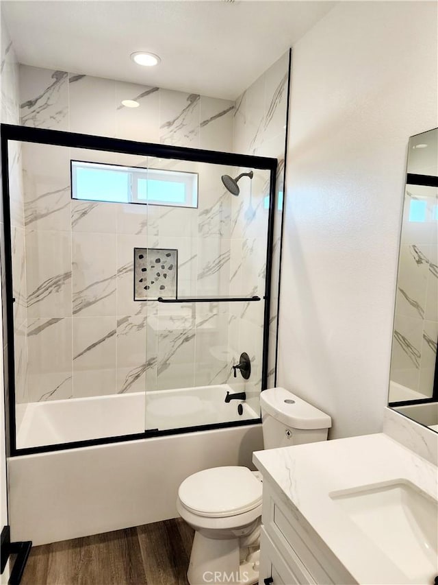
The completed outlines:
<svg viewBox="0 0 438 585">
<path fill-rule="evenodd" d="M 134 248 L 134 300 L 177 298 L 178 250 Z"/>
</svg>

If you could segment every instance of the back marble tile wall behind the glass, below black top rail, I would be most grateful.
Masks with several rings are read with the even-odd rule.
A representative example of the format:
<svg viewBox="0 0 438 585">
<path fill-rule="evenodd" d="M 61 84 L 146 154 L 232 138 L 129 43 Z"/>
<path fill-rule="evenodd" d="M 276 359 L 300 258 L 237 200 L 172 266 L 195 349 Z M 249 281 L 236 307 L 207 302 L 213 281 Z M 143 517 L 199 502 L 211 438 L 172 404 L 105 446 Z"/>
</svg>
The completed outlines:
<svg viewBox="0 0 438 585">
<path fill-rule="evenodd" d="M 62 159 L 71 153 L 60 150 L 23 145 L 29 353 L 38 357 L 29 356 L 29 392 L 44 400 L 188 387 L 209 383 L 209 376 L 224 382 L 200 349 L 207 339 L 227 345 L 218 308 L 136 302 L 132 280 L 134 248 L 177 248 L 180 296 L 229 294 L 231 212 L 209 202 L 214 181 L 216 192 L 222 189 L 222 171 L 199 165 L 203 191 L 194 209 L 70 201 Z M 44 167 L 44 156 L 58 156 L 59 164 Z M 51 193 L 57 204 L 38 207 Z M 57 356 L 54 372 L 50 356 L 59 348 L 64 357 Z"/>
</svg>

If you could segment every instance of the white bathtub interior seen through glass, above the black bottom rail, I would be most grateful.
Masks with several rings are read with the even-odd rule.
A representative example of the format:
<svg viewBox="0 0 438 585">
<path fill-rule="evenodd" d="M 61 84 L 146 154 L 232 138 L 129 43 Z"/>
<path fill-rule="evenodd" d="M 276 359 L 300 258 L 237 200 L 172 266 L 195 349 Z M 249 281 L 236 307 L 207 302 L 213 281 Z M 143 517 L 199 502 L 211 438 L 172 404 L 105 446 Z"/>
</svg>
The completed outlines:
<svg viewBox="0 0 438 585">
<path fill-rule="evenodd" d="M 132 392 L 16 406 L 16 446 L 29 447 L 86 441 L 147 430 L 166 431 L 220 422 L 257 419 L 242 401 L 225 403 L 227 385 Z M 242 403 L 242 415 L 237 405 Z"/>
</svg>

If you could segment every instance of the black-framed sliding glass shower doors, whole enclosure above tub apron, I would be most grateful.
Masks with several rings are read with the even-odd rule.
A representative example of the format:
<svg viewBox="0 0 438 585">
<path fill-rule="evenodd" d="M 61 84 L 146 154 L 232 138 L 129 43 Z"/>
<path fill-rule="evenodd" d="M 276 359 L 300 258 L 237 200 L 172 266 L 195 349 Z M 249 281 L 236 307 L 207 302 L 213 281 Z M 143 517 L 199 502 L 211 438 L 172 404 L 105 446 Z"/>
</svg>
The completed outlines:
<svg viewBox="0 0 438 585">
<path fill-rule="evenodd" d="M 5 125 L 1 152 L 11 455 L 260 422 L 276 160 Z"/>
</svg>

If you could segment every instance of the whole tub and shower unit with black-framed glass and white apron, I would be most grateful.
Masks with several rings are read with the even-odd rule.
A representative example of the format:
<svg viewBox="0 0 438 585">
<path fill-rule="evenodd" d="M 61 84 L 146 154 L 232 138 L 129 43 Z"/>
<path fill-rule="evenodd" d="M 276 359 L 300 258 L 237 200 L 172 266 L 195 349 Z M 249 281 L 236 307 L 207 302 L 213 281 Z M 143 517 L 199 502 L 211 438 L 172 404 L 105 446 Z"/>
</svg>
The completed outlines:
<svg viewBox="0 0 438 585">
<path fill-rule="evenodd" d="M 277 161 L 24 126 L 1 146 L 12 540 L 175 518 L 185 477 L 262 447 Z M 82 196 L 90 173 L 125 199 Z"/>
</svg>

